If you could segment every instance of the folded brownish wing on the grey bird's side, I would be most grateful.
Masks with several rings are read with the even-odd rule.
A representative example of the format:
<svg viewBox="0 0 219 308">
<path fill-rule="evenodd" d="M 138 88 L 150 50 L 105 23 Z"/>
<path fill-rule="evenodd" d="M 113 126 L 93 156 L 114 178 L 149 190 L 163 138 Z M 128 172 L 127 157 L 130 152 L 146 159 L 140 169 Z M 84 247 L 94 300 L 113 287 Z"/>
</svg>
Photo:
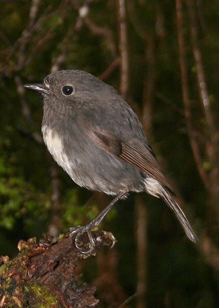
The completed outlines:
<svg viewBox="0 0 219 308">
<path fill-rule="evenodd" d="M 172 191 L 160 170 L 152 149 L 147 144 L 138 140 L 118 140 L 116 137 L 100 131 L 91 132 L 91 138 L 107 152 L 144 171 Z"/>
</svg>

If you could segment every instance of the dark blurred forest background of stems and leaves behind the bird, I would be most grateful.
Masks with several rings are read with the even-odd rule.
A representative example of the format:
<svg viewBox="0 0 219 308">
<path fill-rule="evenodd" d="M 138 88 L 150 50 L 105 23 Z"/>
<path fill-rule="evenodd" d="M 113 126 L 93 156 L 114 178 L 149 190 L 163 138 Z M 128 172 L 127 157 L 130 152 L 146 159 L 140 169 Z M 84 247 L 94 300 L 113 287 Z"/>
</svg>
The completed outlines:
<svg viewBox="0 0 219 308">
<path fill-rule="evenodd" d="M 217 0 L 0 1 L 0 247 L 85 224 L 110 201 L 76 186 L 47 152 L 42 98 L 24 90 L 59 69 L 114 86 L 141 118 L 199 241 L 160 200 L 133 194 L 102 226 L 111 250 L 82 262 L 98 307 L 219 302 Z M 79 275 L 83 273 L 83 275 Z"/>
</svg>

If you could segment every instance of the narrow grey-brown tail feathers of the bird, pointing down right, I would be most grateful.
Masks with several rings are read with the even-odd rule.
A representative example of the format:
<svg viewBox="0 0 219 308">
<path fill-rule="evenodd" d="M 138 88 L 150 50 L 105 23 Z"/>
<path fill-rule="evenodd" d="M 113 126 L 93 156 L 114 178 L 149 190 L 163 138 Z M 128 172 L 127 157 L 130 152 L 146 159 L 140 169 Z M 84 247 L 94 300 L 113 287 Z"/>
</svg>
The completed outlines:
<svg viewBox="0 0 219 308">
<path fill-rule="evenodd" d="M 159 193 L 160 198 L 171 208 L 171 210 L 175 213 L 178 221 L 181 223 L 187 237 L 192 242 L 197 242 L 197 237 L 192 230 L 184 212 L 181 210 L 180 206 L 173 200 L 171 193 L 162 187 Z"/>
</svg>

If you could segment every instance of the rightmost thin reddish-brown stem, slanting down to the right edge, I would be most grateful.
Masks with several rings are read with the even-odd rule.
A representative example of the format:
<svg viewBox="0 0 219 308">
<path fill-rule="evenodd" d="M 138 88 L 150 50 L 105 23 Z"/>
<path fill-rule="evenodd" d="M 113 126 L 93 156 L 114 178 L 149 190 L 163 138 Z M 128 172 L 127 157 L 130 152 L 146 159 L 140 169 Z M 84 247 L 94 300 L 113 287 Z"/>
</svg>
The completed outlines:
<svg viewBox="0 0 219 308">
<path fill-rule="evenodd" d="M 211 102 L 209 99 L 209 93 L 207 89 L 204 65 L 202 60 L 202 52 L 200 44 L 198 43 L 198 30 L 197 30 L 197 7 L 193 0 L 188 0 L 188 11 L 190 19 L 190 33 L 192 51 L 194 56 L 194 63 L 196 67 L 196 78 L 197 78 L 197 89 L 200 96 L 200 104 L 204 111 L 205 119 L 205 131 L 203 134 L 206 135 L 205 144 L 205 161 L 209 161 L 210 170 L 207 172 L 207 185 L 206 189 L 211 198 L 210 207 L 208 210 L 209 222 L 208 228 L 214 234 L 218 234 L 219 225 L 219 155 L 218 155 L 218 127 L 215 123 Z M 204 162 L 202 168 L 204 169 Z M 214 222 L 212 224 L 212 222 Z M 217 240 L 219 240 L 217 235 Z"/>
</svg>

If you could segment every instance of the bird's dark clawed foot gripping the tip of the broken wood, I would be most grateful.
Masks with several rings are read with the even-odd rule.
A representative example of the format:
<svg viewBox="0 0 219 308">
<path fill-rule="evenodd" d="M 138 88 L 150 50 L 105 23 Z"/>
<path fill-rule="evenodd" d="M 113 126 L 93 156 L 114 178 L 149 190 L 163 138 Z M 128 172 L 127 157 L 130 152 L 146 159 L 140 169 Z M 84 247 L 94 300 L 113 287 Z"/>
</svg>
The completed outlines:
<svg viewBox="0 0 219 308">
<path fill-rule="evenodd" d="M 71 237 L 74 239 L 74 246 L 84 255 L 92 255 L 96 249 L 107 245 L 112 248 L 116 242 L 111 232 L 98 230 L 97 227 L 76 226 L 69 229 Z"/>
</svg>

